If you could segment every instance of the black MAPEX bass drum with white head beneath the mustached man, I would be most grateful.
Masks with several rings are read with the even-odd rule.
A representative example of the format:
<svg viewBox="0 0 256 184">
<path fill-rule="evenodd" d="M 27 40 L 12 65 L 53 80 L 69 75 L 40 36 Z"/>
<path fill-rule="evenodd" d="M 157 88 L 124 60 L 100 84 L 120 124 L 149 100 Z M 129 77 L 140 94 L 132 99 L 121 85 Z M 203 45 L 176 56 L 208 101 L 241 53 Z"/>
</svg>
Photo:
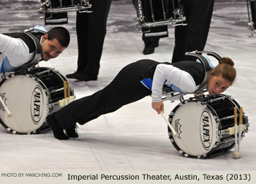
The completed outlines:
<svg viewBox="0 0 256 184">
<path fill-rule="evenodd" d="M 58 71 L 47 67 L 16 72 L 1 81 L 1 98 L 12 112 L 12 116 L 7 117 L 0 103 L 1 125 L 12 134 L 38 134 L 49 129 L 46 117 L 60 108 L 64 81 L 65 77 Z"/>
</svg>

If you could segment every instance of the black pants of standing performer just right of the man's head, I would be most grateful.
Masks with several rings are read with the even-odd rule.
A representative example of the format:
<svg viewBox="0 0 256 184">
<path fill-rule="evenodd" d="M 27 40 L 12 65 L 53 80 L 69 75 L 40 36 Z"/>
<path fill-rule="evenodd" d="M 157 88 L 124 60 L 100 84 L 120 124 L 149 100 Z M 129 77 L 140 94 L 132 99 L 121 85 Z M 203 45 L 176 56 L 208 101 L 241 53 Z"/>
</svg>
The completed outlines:
<svg viewBox="0 0 256 184">
<path fill-rule="evenodd" d="M 97 76 L 106 35 L 111 0 L 91 0 L 91 13 L 77 12 L 78 69 L 81 74 Z"/>
</svg>

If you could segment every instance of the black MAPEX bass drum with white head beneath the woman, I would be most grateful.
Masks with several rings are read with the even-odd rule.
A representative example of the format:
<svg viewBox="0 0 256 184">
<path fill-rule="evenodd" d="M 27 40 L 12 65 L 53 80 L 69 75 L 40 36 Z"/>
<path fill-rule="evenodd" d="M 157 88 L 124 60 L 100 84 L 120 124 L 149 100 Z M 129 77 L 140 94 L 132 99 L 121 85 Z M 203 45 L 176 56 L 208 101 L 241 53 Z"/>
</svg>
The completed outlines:
<svg viewBox="0 0 256 184">
<path fill-rule="evenodd" d="M 234 107 L 239 111 L 239 104 L 224 94 L 185 100 L 170 112 L 169 121 L 178 133 L 178 137 L 173 137 L 168 128 L 170 141 L 182 156 L 189 158 L 208 158 L 230 150 L 235 145 L 235 135 L 230 134 Z M 248 118 L 243 114 L 241 137 L 248 126 Z"/>
</svg>

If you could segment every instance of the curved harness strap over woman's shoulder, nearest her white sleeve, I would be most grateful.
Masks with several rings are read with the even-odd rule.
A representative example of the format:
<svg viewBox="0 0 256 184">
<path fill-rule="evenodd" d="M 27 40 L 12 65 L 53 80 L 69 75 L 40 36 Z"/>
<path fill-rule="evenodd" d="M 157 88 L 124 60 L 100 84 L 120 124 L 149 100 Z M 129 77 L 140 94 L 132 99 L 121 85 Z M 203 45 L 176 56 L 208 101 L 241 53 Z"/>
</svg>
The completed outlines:
<svg viewBox="0 0 256 184">
<path fill-rule="evenodd" d="M 191 52 L 191 53 L 186 53 L 186 55 L 192 55 L 195 56 L 195 58 L 199 59 L 201 61 L 201 64 L 203 65 L 203 69 L 205 70 L 205 77 L 203 79 L 203 83 L 199 85 L 199 88 L 197 89 L 196 93 L 203 93 L 203 87 L 206 85 L 208 82 L 210 75 L 211 75 L 211 66 L 206 60 L 203 55 L 197 54 L 197 51 Z"/>
</svg>

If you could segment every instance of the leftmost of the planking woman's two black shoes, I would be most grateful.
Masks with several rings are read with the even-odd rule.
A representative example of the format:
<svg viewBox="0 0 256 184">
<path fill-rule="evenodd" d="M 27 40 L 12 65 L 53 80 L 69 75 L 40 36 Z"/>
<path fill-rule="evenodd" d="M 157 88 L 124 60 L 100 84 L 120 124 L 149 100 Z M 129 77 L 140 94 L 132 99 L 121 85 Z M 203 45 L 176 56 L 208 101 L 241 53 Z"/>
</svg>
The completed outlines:
<svg viewBox="0 0 256 184">
<path fill-rule="evenodd" d="M 56 139 L 60 140 L 67 140 L 69 137 L 67 137 L 66 134 L 64 134 L 63 129 L 59 126 L 58 122 L 54 119 L 53 115 L 48 115 L 46 118 L 48 125 L 53 130 L 53 135 L 56 137 Z"/>
</svg>

